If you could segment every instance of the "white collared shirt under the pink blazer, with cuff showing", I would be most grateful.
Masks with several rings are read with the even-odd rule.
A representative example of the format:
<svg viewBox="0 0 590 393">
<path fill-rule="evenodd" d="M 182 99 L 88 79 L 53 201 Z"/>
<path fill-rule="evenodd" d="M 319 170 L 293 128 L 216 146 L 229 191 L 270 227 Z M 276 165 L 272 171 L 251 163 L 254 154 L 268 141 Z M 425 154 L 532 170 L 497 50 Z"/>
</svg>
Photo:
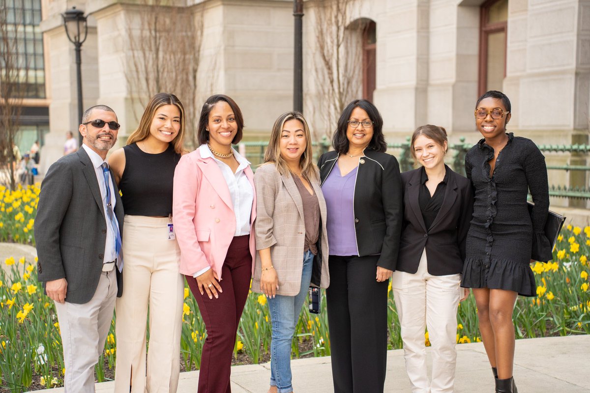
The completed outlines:
<svg viewBox="0 0 590 393">
<path fill-rule="evenodd" d="M 250 165 L 250 161 L 240 156 L 240 153 L 234 148 L 231 148 L 231 150 L 234 151 L 234 157 L 238 161 L 238 164 L 240 164 L 238 169 L 235 170 L 235 173 L 231 171 L 228 164 L 215 158 L 209 147 L 207 147 L 207 144 L 199 146 L 199 154 L 201 154 L 202 158 L 211 157 L 215 160 L 230 190 L 231 203 L 235 214 L 234 236 L 250 235 L 250 216 L 252 214 L 252 203 L 254 202 L 254 189 L 244 172 L 244 169 Z M 192 276 L 198 277 L 209 269 L 210 267 L 204 267 Z"/>
</svg>

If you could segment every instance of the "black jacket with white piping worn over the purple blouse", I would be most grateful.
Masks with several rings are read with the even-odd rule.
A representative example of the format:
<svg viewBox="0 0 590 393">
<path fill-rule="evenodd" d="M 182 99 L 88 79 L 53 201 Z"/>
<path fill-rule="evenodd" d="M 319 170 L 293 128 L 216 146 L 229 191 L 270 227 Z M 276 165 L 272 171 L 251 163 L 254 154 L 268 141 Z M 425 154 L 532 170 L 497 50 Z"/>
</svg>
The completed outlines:
<svg viewBox="0 0 590 393">
<path fill-rule="evenodd" d="M 317 164 L 321 184 L 332 171 L 338 153 L 322 154 Z M 359 256 L 377 255 L 377 266 L 395 270 L 402 227 L 402 184 L 398 160 L 366 149 L 355 179 L 355 235 Z"/>
</svg>

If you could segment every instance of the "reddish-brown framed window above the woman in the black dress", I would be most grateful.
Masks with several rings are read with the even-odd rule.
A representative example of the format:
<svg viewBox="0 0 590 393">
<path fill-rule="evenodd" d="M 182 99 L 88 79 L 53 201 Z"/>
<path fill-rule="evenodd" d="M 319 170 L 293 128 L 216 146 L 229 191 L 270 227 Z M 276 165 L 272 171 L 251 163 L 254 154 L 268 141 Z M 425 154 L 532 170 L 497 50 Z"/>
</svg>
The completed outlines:
<svg viewBox="0 0 590 393">
<path fill-rule="evenodd" d="M 479 94 L 502 90 L 506 77 L 508 0 L 487 0 L 481 5 Z"/>
</svg>

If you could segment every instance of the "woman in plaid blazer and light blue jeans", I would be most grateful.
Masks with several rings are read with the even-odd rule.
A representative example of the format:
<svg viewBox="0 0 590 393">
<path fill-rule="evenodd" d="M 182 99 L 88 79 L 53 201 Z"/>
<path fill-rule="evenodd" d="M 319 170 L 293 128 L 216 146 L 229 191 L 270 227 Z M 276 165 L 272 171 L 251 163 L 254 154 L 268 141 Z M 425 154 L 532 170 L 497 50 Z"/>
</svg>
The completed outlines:
<svg viewBox="0 0 590 393">
<path fill-rule="evenodd" d="M 273 324 L 268 392 L 288 393 L 293 391 L 291 341 L 307 288 L 310 281 L 320 288 L 329 285 L 326 202 L 301 113 L 277 118 L 254 184 L 258 254 L 252 290 L 268 297 Z"/>
</svg>

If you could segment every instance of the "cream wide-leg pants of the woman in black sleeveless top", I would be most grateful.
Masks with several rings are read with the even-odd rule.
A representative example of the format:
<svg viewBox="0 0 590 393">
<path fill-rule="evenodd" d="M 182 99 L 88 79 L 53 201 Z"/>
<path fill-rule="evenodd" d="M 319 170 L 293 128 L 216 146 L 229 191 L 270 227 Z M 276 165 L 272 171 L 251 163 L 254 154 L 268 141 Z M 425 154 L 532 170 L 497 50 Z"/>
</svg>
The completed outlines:
<svg viewBox="0 0 590 393">
<path fill-rule="evenodd" d="M 184 279 L 168 223 L 168 217 L 125 216 L 123 296 L 115 308 L 116 393 L 128 393 L 130 385 L 133 393 L 173 393 L 178 387 Z"/>
</svg>

